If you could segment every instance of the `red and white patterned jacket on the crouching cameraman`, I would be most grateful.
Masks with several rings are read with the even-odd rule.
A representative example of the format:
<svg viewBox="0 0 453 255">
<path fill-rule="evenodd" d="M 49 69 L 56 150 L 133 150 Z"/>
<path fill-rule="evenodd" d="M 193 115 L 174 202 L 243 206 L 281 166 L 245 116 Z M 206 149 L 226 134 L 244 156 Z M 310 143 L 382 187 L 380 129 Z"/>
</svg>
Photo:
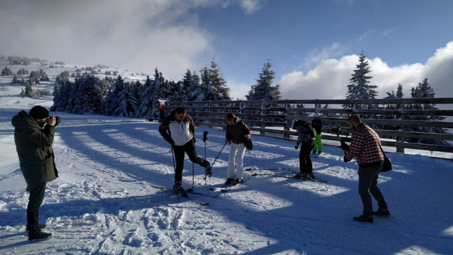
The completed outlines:
<svg viewBox="0 0 453 255">
<path fill-rule="evenodd" d="M 363 123 L 352 132 L 351 144 L 344 156 L 345 161 L 350 161 L 354 157 L 357 157 L 357 165 L 362 167 L 380 166 L 384 161 L 378 134 Z"/>
</svg>

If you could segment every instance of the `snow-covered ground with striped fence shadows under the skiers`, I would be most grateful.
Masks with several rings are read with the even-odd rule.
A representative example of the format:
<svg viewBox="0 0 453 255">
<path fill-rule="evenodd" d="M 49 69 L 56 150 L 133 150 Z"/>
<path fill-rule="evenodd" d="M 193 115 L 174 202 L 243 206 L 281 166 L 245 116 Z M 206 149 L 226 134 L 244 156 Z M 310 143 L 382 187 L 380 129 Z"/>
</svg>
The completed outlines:
<svg viewBox="0 0 453 255">
<path fill-rule="evenodd" d="M 46 69 L 47 71 L 48 69 Z M 49 74 L 49 72 L 47 72 Z M 58 74 L 59 72 L 56 72 Z M 49 75 L 50 76 L 50 75 Z M 52 78 L 51 78 L 52 79 Z M 8 81 L 7 81 L 8 80 Z M 392 153 L 394 170 L 379 179 L 391 217 L 352 220 L 361 214 L 357 165 L 325 147 L 313 158 L 315 173 L 328 183 L 254 173 L 298 171 L 294 143 L 253 136 L 245 155 L 243 185 L 211 191 L 226 178 L 229 146 L 213 175 L 194 166 L 194 190 L 209 196 L 178 198 L 171 188 L 174 166 L 157 122 L 62 112 L 53 149 L 59 178 L 48 183 L 41 223 L 54 233 L 30 243 L 25 235 L 28 193 L 15 151 L 11 117 L 51 97 L 23 98 L 21 86 L 0 77 L 0 253 L 1 254 L 452 254 L 453 162 Z M 208 131 L 208 141 L 202 134 Z M 213 161 L 224 132 L 196 127 L 199 156 Z M 183 186 L 192 188 L 186 159 Z M 209 205 L 200 205 L 209 202 Z M 376 207 L 376 204 L 374 203 Z"/>
</svg>

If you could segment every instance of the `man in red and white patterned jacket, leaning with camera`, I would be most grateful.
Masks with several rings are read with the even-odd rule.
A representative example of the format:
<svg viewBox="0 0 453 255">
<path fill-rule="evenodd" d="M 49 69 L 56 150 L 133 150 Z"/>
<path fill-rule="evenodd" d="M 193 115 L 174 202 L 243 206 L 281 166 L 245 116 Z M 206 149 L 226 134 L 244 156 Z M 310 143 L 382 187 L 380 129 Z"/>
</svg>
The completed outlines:
<svg viewBox="0 0 453 255">
<path fill-rule="evenodd" d="M 349 148 L 345 150 L 344 162 L 357 157 L 359 176 L 358 192 L 363 203 L 363 214 L 354 220 L 373 222 L 373 215 L 389 216 L 387 203 L 378 188 L 378 177 L 382 171 L 384 154 L 378 134 L 368 125 L 362 123 L 358 115 L 351 115 L 347 121 L 352 129 L 352 139 Z M 378 201 L 379 209 L 373 212 L 371 195 Z"/>
</svg>

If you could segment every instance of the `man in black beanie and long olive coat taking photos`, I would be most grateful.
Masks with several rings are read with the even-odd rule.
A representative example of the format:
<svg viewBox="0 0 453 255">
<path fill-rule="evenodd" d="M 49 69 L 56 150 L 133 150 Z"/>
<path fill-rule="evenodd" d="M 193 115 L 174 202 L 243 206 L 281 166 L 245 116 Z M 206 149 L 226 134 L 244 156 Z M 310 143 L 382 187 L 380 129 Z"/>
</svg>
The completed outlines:
<svg viewBox="0 0 453 255">
<path fill-rule="evenodd" d="M 41 231 L 47 225 L 39 224 L 39 207 L 44 199 L 46 183 L 58 177 L 52 144 L 55 126 L 59 122 L 59 117 L 49 116 L 49 111 L 40 105 L 31 108 L 29 113 L 22 110 L 11 119 L 20 168 L 30 192 L 26 228 L 29 241 L 52 238 L 51 233 Z"/>
</svg>

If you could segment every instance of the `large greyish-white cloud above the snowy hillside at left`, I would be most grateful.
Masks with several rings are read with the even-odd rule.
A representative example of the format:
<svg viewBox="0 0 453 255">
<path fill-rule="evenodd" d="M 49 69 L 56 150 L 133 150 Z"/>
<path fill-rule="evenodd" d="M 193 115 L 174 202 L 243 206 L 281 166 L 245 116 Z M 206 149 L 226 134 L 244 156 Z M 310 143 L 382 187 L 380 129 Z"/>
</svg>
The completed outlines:
<svg viewBox="0 0 453 255">
<path fill-rule="evenodd" d="M 0 53 L 154 73 L 179 80 L 215 56 L 213 35 L 199 26 L 196 8 L 258 0 L 3 1 Z"/>
</svg>

